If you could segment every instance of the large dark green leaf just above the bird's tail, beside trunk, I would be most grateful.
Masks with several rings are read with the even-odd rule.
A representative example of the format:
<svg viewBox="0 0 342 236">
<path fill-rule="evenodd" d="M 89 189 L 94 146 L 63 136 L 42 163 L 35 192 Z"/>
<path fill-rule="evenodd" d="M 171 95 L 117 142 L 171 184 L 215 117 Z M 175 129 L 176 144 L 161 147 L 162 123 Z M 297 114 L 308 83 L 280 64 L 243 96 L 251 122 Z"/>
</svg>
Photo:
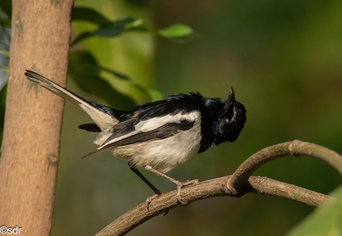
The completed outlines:
<svg viewBox="0 0 342 236">
<path fill-rule="evenodd" d="M 95 58 L 89 52 L 70 53 L 68 73 L 83 91 L 94 94 L 110 105 L 116 104 L 115 109 L 124 110 L 134 107 L 135 103 L 129 97 L 120 94 L 99 77 L 101 70 L 102 68 L 97 65 Z"/>
</svg>

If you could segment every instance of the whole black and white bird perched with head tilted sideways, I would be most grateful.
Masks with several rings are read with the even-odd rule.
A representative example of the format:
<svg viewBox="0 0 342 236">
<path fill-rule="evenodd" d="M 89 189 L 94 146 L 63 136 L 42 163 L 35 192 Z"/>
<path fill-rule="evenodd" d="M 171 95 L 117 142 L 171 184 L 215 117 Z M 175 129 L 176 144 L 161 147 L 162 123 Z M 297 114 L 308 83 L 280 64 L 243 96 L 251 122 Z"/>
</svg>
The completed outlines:
<svg viewBox="0 0 342 236">
<path fill-rule="evenodd" d="M 177 185 L 177 200 L 181 204 L 185 204 L 181 189 L 198 180 L 181 182 L 165 173 L 189 163 L 212 143 L 234 142 L 246 122 L 246 109 L 235 100 L 233 88 L 228 99 L 207 98 L 199 93 L 177 94 L 121 111 L 85 100 L 35 72 L 27 70 L 25 75 L 91 117 L 94 124 L 78 127 L 98 132 L 94 143 L 100 147 L 86 156 L 111 150 L 115 156 L 127 159 L 130 169 L 157 195 L 161 192 L 137 167 L 169 179 Z M 147 198 L 147 206 L 154 196 Z"/>
</svg>

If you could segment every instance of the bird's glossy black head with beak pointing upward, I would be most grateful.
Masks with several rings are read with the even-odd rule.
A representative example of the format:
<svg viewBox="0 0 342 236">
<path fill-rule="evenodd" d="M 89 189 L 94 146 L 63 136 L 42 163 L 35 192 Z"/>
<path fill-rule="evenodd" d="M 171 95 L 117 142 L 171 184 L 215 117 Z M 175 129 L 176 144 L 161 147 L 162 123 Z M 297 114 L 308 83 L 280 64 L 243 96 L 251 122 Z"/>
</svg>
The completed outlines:
<svg viewBox="0 0 342 236">
<path fill-rule="evenodd" d="M 239 137 L 247 119 L 246 109 L 235 100 L 233 88 L 229 91 L 228 99 L 220 101 L 221 108 L 214 112 L 211 123 L 216 145 L 222 142 L 234 142 Z"/>
</svg>

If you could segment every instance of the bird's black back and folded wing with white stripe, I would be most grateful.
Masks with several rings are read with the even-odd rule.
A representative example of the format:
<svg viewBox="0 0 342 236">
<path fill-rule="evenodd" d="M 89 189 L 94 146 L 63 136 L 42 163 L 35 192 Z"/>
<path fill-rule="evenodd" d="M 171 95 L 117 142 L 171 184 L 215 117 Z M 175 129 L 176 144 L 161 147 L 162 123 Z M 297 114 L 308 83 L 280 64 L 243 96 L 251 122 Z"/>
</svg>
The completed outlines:
<svg viewBox="0 0 342 236">
<path fill-rule="evenodd" d="M 123 112 L 120 122 L 112 127 L 113 134 L 86 156 L 124 145 L 168 138 L 192 128 L 198 120 L 198 107 L 189 95 L 146 103 Z"/>
</svg>

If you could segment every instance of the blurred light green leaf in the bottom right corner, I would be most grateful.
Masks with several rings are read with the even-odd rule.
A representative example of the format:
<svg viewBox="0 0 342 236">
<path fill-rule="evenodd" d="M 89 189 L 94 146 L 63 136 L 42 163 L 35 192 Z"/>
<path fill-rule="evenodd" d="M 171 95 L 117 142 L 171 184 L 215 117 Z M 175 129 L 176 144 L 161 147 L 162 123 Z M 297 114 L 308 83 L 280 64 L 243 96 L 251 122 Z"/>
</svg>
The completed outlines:
<svg viewBox="0 0 342 236">
<path fill-rule="evenodd" d="M 315 209 L 287 236 L 338 236 L 342 235 L 342 185 L 332 193 L 332 198 Z"/>
</svg>

